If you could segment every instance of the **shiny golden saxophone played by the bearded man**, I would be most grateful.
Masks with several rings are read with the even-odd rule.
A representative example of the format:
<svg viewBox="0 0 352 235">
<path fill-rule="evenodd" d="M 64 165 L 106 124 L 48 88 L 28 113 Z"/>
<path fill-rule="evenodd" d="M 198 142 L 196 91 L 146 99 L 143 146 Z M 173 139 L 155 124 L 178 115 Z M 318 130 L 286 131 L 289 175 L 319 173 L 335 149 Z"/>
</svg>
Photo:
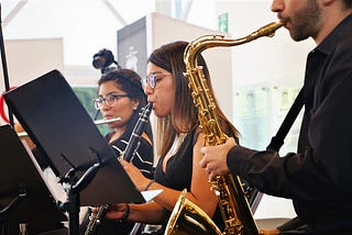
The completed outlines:
<svg viewBox="0 0 352 235">
<path fill-rule="evenodd" d="M 204 131 L 206 145 L 213 146 L 223 144 L 228 136 L 223 133 L 218 122 L 215 112 L 216 104 L 205 82 L 202 68 L 197 64 L 197 56 L 207 48 L 237 46 L 262 36 L 273 36 L 275 31 L 280 26 L 283 26 L 283 23 L 274 22 L 239 40 L 227 40 L 222 35 L 206 35 L 188 44 L 184 55 L 187 69 L 185 76 L 189 79 L 189 87 L 193 89 L 193 99 L 195 105 L 198 108 L 199 126 Z M 193 202 L 186 200 L 186 193 L 182 193 L 172 212 L 165 234 L 258 234 L 241 180 L 238 176 L 218 176 L 216 180 L 211 181 L 211 188 L 218 197 L 224 231 L 220 232 L 211 219 Z M 200 220 L 204 222 L 200 222 Z M 187 224 L 187 226 L 185 226 L 185 224 Z M 205 227 L 204 224 L 208 224 L 208 226 Z M 199 230 L 201 227 L 205 231 Z"/>
</svg>

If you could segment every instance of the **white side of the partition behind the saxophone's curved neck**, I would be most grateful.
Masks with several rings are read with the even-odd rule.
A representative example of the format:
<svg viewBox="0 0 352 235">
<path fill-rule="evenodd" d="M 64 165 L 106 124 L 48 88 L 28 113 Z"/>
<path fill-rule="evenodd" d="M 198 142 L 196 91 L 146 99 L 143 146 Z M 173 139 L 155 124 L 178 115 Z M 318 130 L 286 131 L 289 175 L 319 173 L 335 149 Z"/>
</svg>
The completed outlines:
<svg viewBox="0 0 352 235">
<path fill-rule="evenodd" d="M 151 37 L 148 54 L 152 49 L 174 41 L 191 42 L 199 36 L 209 34 L 223 34 L 213 30 L 189 24 L 160 13 L 148 15 Z M 222 111 L 232 116 L 232 69 L 231 49 L 207 49 L 202 55 L 209 67 L 212 86 Z"/>
</svg>

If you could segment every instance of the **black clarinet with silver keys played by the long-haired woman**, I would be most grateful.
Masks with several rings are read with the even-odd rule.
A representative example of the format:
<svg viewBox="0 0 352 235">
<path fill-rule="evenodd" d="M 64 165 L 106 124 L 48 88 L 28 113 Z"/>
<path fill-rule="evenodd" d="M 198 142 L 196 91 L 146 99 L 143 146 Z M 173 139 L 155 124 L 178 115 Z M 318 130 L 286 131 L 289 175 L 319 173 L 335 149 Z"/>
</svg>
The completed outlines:
<svg viewBox="0 0 352 235">
<path fill-rule="evenodd" d="M 122 152 L 120 158 L 123 158 L 127 161 L 131 161 L 133 156 L 135 155 L 138 148 L 140 147 L 140 138 L 145 131 L 146 124 L 148 122 L 148 118 L 151 115 L 153 104 L 147 103 L 140 113 L 140 119 L 135 123 L 129 143 L 124 150 Z M 91 213 L 89 216 L 89 223 L 85 231 L 85 235 L 94 235 L 98 232 L 100 224 L 107 213 L 109 205 L 103 204 L 100 205 L 97 212 Z"/>
</svg>

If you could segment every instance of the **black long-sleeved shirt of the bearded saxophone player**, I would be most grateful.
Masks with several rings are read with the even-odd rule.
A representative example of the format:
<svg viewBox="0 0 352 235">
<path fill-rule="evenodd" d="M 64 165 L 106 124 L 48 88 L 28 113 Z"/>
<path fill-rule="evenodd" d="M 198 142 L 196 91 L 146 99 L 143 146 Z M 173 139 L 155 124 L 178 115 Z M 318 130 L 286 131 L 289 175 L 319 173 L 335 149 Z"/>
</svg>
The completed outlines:
<svg viewBox="0 0 352 235">
<path fill-rule="evenodd" d="M 228 166 L 267 194 L 292 199 L 304 234 L 352 234 L 352 14 L 307 58 L 297 154 L 233 147 Z M 310 90 L 310 92 L 309 92 Z"/>
</svg>

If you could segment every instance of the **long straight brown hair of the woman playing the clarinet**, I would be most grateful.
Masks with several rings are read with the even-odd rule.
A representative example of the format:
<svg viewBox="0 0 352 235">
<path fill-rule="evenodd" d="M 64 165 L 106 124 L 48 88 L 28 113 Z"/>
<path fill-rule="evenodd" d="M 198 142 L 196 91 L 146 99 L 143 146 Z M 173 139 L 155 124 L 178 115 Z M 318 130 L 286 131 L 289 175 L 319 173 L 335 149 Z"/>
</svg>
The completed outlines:
<svg viewBox="0 0 352 235">
<path fill-rule="evenodd" d="M 188 43 L 183 41 L 177 41 L 174 43 L 165 44 L 157 49 L 155 49 L 148 61 L 169 71 L 175 79 L 175 102 L 173 103 L 172 112 L 167 118 L 158 119 L 157 122 L 157 144 L 158 144 L 158 154 L 165 155 L 167 150 L 173 145 L 173 141 L 177 133 L 187 133 L 198 126 L 198 110 L 194 104 L 191 90 L 188 87 L 188 78 L 184 76 L 186 71 L 186 65 L 184 63 L 184 53 Z M 210 75 L 208 66 L 204 57 L 199 54 L 197 57 L 198 65 L 202 66 L 202 72 L 209 92 L 213 97 L 216 102 L 216 112 L 219 116 L 218 121 L 228 136 L 238 137 L 238 130 L 228 121 L 226 115 L 220 110 L 213 93 L 211 86 Z M 176 126 L 175 118 L 183 119 L 185 126 Z M 186 128 L 186 130 L 185 130 Z"/>
</svg>

